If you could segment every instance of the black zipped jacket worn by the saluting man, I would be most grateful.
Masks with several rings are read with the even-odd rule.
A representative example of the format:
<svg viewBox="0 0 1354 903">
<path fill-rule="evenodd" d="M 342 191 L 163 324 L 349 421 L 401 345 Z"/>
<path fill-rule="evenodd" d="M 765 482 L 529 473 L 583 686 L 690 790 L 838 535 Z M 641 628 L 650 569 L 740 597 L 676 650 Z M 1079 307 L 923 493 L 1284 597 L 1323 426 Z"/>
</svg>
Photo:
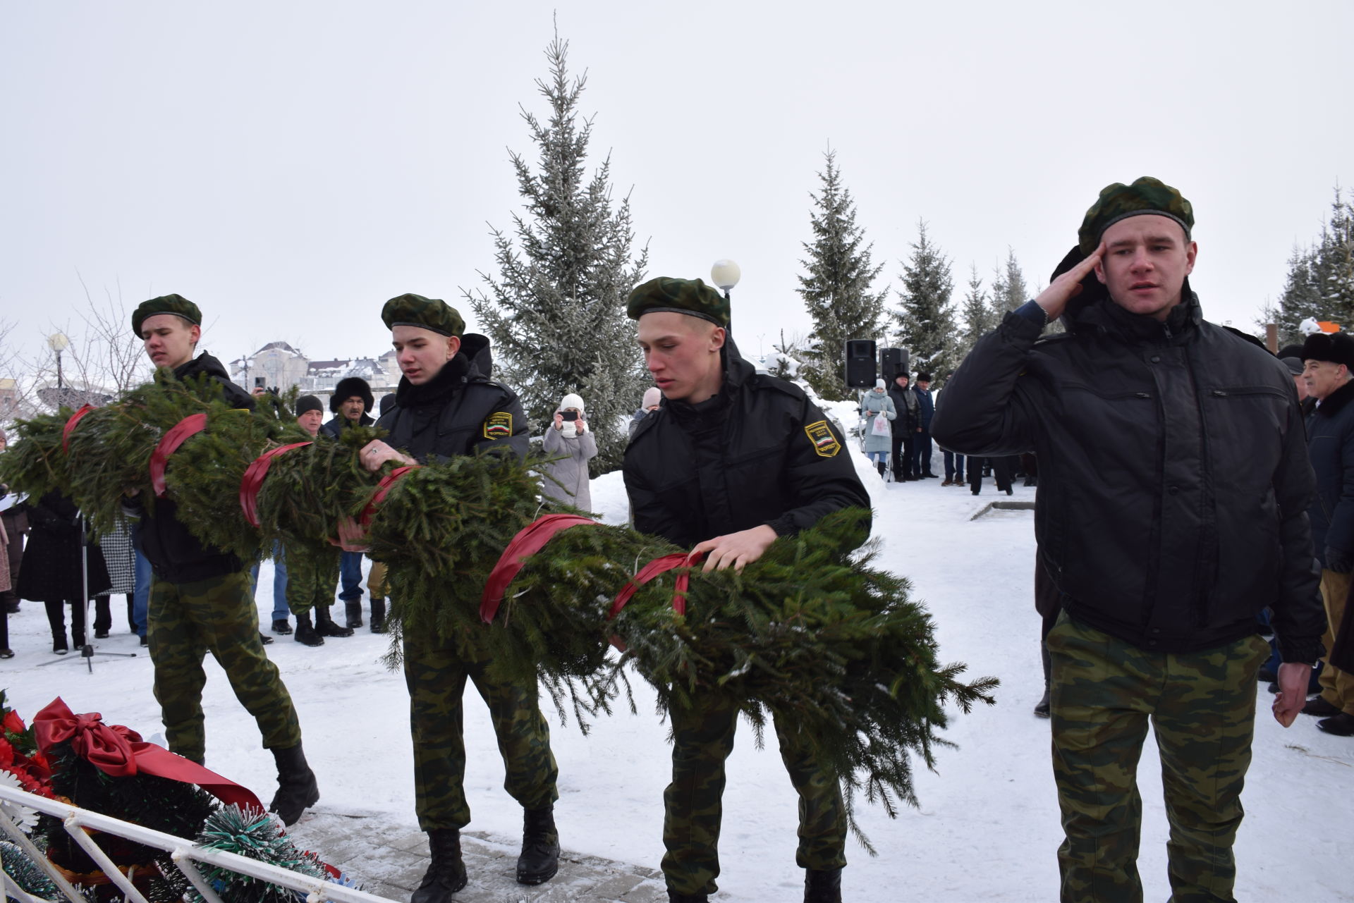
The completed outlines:
<svg viewBox="0 0 1354 903">
<path fill-rule="evenodd" d="M 1154 651 L 1255 631 L 1273 607 L 1285 661 L 1322 654 L 1293 379 L 1205 322 L 1193 292 L 1166 322 L 1102 296 L 1070 332 L 1010 313 L 941 395 L 932 432 L 969 455 L 1039 455 L 1039 555 L 1072 617 Z"/>
</svg>

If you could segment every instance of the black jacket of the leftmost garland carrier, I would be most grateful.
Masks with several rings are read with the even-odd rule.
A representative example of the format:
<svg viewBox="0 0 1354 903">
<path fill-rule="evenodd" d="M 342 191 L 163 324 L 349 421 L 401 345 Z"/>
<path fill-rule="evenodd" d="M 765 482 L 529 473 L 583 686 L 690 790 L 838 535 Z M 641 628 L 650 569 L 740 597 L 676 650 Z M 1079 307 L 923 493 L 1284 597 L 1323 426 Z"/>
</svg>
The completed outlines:
<svg viewBox="0 0 1354 903">
<path fill-rule="evenodd" d="M 173 371 L 181 380 L 203 374 L 221 383 L 232 406 L 253 410 L 249 393 L 230 382 L 226 368 L 211 355 L 198 355 Z M 169 466 L 173 467 L 172 460 Z M 188 532 L 179 523 L 177 506 L 169 498 L 156 498 L 154 516 L 141 520 L 141 544 L 156 577 L 171 583 L 191 583 L 244 570 L 244 562 L 237 556 L 215 546 L 204 546 Z"/>
</svg>

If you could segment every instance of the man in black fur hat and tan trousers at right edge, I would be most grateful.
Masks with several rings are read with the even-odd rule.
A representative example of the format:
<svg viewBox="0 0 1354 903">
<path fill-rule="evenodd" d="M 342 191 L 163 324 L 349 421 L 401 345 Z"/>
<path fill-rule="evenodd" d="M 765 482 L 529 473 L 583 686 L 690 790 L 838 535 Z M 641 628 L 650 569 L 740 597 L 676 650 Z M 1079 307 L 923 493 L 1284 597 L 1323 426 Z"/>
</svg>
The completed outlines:
<svg viewBox="0 0 1354 903">
<path fill-rule="evenodd" d="M 1345 598 L 1354 571 L 1354 338 L 1349 333 L 1315 333 L 1303 343 L 1303 380 L 1316 399 L 1307 416 L 1307 452 L 1316 474 L 1316 500 L 1308 509 L 1312 544 L 1322 562 L 1322 598 L 1327 630 L 1322 642 L 1334 650 L 1346 616 Z M 1303 711 L 1322 715 L 1327 734 L 1354 736 L 1354 674 L 1327 655 L 1322 695 Z"/>
</svg>

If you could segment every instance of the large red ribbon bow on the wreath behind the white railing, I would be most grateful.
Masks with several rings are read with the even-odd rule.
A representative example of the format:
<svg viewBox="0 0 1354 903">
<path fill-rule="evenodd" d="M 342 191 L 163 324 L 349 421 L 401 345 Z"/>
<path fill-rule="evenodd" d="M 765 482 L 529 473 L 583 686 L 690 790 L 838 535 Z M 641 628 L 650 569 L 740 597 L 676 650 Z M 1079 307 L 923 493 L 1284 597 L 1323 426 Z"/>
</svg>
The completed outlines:
<svg viewBox="0 0 1354 903">
<path fill-rule="evenodd" d="M 227 806 L 234 803 L 240 808 L 263 811 L 263 803 L 249 788 L 175 755 L 162 746 L 146 743 L 139 734 L 122 724 L 104 724 L 97 712 L 76 715 L 60 696 L 34 716 L 32 730 L 38 749 L 43 753 L 69 739 L 74 754 L 104 774 L 130 777 L 142 773 L 196 784 Z"/>
</svg>

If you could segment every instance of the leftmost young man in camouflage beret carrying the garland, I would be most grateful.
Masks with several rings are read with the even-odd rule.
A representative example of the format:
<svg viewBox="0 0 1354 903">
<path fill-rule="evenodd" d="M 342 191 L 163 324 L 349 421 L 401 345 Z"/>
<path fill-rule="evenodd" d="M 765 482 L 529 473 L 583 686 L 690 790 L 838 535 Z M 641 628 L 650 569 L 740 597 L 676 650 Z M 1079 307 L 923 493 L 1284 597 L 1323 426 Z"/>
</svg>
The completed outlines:
<svg viewBox="0 0 1354 903">
<path fill-rule="evenodd" d="M 131 330 L 145 344 L 150 361 L 171 370 L 175 379 L 207 376 L 227 402 L 253 408 L 253 399 L 230 382 L 219 360 L 209 353 L 192 356 L 202 337 L 198 305 L 180 295 L 152 298 L 133 311 Z M 139 497 L 130 500 L 129 512 L 139 513 L 142 504 Z M 176 517 L 172 498 L 150 504 L 153 516 L 141 521 L 142 551 L 153 573 L 146 638 L 169 749 L 195 762 L 206 757 L 202 688 L 207 676 L 202 659 L 210 651 L 276 759 L 278 793 L 271 810 L 291 824 L 314 806 L 320 789 L 301 749 L 301 724 L 291 696 L 259 638 L 249 571 L 234 555 L 188 532 Z"/>
</svg>

